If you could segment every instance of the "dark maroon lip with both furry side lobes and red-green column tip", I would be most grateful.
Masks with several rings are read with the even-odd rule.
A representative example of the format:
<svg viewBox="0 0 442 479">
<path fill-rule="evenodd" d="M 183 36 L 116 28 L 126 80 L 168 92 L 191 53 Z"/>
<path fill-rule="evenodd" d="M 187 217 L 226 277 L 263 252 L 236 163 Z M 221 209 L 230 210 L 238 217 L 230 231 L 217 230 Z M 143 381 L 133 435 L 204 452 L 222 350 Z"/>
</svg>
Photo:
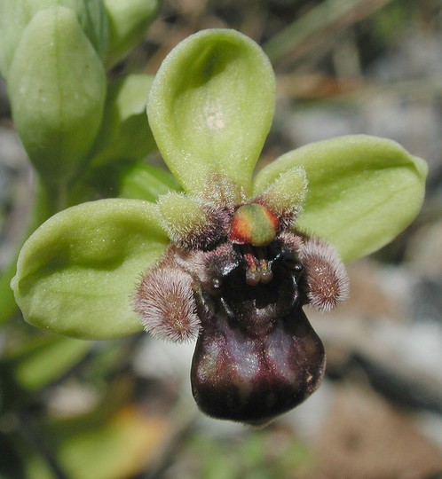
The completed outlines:
<svg viewBox="0 0 442 479">
<path fill-rule="evenodd" d="M 134 310 L 146 331 L 197 339 L 193 397 L 209 416 L 264 425 L 320 386 L 324 348 L 303 307 L 333 309 L 348 279 L 335 249 L 296 232 L 296 211 L 286 213 L 265 194 L 213 204 L 201 210 L 208 224 L 184 229 L 138 286 Z"/>
</svg>

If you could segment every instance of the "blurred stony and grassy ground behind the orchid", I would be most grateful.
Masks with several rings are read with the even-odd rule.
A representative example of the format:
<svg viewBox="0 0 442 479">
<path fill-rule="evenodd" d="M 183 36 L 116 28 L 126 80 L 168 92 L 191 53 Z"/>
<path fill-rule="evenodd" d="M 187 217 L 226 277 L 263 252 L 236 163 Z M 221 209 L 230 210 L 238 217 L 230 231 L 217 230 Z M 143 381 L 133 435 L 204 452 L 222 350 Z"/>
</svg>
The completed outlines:
<svg viewBox="0 0 442 479">
<path fill-rule="evenodd" d="M 420 216 L 350 267 L 351 297 L 307 312 L 328 371 L 264 429 L 193 404 L 193 345 L 146 334 L 80 342 L 0 326 L 0 478 L 437 479 L 442 477 L 442 3 L 164 1 L 112 75 L 154 74 L 182 39 L 232 27 L 260 43 L 278 105 L 261 161 L 367 133 L 427 160 Z M 0 83 L 0 269 L 20 240 L 33 177 Z M 148 161 L 158 162 L 158 156 Z"/>
</svg>

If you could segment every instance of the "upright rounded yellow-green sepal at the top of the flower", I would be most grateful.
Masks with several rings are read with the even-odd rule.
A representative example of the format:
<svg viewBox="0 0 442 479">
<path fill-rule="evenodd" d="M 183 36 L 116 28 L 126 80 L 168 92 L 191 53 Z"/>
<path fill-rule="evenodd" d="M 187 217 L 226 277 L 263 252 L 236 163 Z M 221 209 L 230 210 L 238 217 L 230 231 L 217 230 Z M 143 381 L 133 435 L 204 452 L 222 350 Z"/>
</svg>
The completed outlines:
<svg viewBox="0 0 442 479">
<path fill-rule="evenodd" d="M 257 43 L 227 29 L 191 35 L 155 76 L 147 114 L 164 161 L 187 192 L 212 175 L 249 190 L 272 122 L 275 81 Z"/>
</svg>

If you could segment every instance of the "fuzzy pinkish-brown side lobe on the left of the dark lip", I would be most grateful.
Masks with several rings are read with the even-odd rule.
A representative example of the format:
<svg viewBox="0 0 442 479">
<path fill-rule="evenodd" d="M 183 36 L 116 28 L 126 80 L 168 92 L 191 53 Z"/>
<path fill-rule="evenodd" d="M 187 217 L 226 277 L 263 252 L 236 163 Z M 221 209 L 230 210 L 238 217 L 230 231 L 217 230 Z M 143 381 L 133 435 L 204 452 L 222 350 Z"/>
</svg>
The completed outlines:
<svg viewBox="0 0 442 479">
<path fill-rule="evenodd" d="M 158 265 L 138 286 L 134 310 L 146 331 L 170 342 L 189 342 L 200 332 L 192 277 L 174 266 Z"/>
</svg>

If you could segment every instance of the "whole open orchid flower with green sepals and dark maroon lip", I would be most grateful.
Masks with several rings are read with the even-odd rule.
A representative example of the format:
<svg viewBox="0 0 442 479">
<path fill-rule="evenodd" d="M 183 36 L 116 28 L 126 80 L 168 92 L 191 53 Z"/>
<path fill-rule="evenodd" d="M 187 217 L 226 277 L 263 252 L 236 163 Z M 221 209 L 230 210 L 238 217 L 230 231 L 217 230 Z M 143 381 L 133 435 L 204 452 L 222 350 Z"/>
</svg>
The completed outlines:
<svg viewBox="0 0 442 479">
<path fill-rule="evenodd" d="M 179 43 L 147 116 L 182 190 L 52 216 L 12 280 L 24 318 L 81 338 L 144 326 L 196 340 L 193 397 L 219 419 L 264 424 L 310 396 L 326 360 L 304 306 L 346 298 L 344 263 L 410 224 L 426 165 L 356 135 L 304 145 L 253 176 L 274 104 L 272 66 L 245 35 L 209 29 Z"/>
</svg>

